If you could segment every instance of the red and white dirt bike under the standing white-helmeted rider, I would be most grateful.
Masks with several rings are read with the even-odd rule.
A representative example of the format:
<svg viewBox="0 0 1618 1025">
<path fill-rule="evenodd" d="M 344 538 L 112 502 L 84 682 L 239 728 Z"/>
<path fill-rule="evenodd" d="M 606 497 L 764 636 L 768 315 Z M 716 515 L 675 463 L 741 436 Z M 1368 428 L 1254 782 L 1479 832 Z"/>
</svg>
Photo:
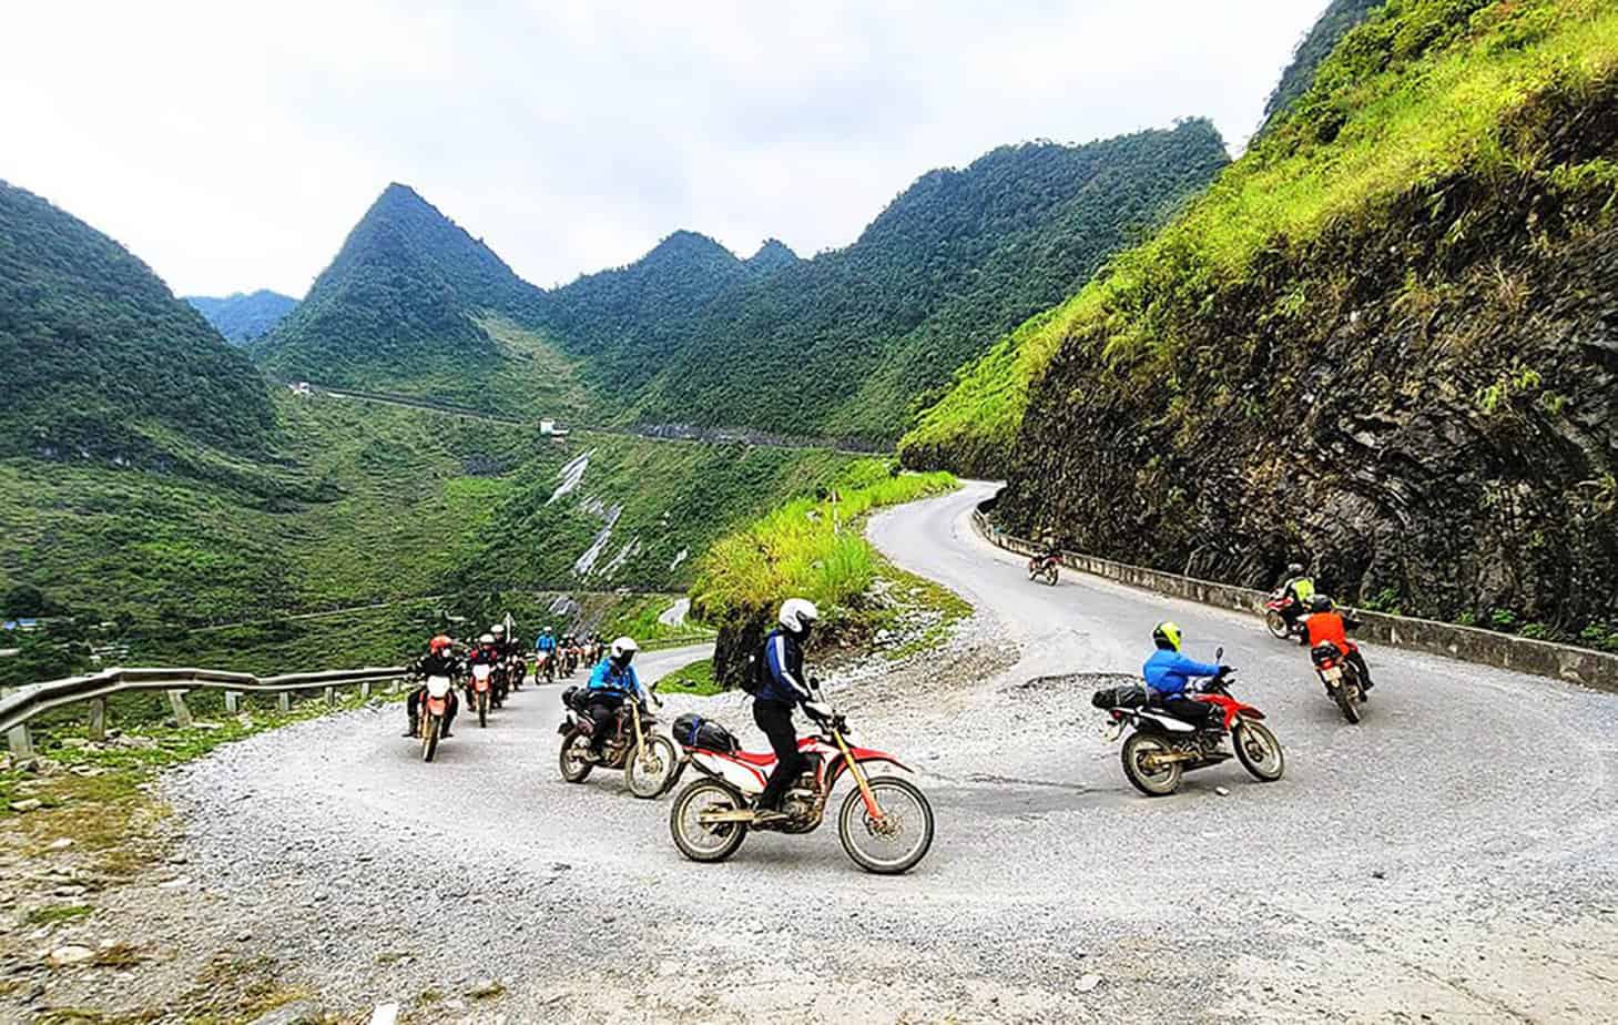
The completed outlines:
<svg viewBox="0 0 1618 1025">
<path fill-rule="evenodd" d="M 680 853 L 693 861 L 723 861 L 736 853 L 749 829 L 812 832 L 825 818 L 827 802 L 846 774 L 854 789 L 837 813 L 843 850 L 870 873 L 896 874 L 914 868 L 932 847 L 932 805 L 916 784 L 896 776 L 869 776 L 866 766 L 887 763 L 909 772 L 892 755 L 858 748 L 845 735 L 848 722 L 830 714 L 815 719 L 817 735 L 798 742 L 809 768 L 781 798 L 785 818 L 757 826 L 754 802 L 775 769 L 773 753 L 686 746 L 691 768 L 702 772 L 668 813 L 668 829 Z"/>
</svg>

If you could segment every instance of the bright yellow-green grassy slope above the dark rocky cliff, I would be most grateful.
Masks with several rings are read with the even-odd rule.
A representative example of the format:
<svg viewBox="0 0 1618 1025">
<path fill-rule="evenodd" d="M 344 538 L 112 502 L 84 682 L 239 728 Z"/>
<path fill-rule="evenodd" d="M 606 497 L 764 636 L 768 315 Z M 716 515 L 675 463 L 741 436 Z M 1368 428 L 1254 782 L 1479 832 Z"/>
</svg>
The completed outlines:
<svg viewBox="0 0 1618 1025">
<path fill-rule="evenodd" d="M 1455 11 L 1474 8 L 1464 34 L 1448 39 Z M 1388 3 L 1186 215 L 963 368 L 901 453 L 990 470 L 1010 452 L 1031 382 L 1066 340 L 1091 338 L 1105 358 L 1152 350 L 1168 366 L 1170 306 L 1239 283 L 1257 259 L 1345 219 L 1372 220 L 1424 183 L 1510 164 L 1498 130 L 1513 112 L 1552 86 L 1600 78 L 1615 60 L 1608 0 Z"/>
</svg>

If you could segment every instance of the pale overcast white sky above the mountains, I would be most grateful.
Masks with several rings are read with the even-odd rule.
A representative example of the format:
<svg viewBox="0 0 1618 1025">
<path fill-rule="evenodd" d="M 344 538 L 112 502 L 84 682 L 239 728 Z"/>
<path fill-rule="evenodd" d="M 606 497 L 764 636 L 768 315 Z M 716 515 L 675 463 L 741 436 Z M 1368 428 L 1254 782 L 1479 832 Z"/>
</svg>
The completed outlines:
<svg viewBox="0 0 1618 1025">
<path fill-rule="evenodd" d="M 675 228 L 809 256 L 1003 142 L 1236 149 L 1325 3 L 23 0 L 0 178 L 181 295 L 301 296 L 388 181 L 547 287 Z"/>
</svg>

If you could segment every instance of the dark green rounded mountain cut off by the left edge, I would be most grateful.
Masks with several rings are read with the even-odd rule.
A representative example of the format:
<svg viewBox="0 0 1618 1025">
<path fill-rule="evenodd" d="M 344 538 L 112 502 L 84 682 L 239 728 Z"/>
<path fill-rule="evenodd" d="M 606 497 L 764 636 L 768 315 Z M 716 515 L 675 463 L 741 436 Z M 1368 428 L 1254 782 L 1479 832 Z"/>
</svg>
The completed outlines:
<svg viewBox="0 0 1618 1025">
<path fill-rule="evenodd" d="M 270 400 L 248 358 L 123 246 L 0 181 L 0 455 L 251 453 Z"/>
</svg>

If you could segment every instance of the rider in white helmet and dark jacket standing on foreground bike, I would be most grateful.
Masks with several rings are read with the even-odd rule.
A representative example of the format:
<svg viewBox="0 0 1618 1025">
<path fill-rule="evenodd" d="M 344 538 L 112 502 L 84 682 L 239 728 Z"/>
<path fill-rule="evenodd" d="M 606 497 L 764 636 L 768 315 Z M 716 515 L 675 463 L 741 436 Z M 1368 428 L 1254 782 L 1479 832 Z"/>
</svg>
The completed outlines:
<svg viewBox="0 0 1618 1025">
<path fill-rule="evenodd" d="M 785 818 L 781 798 L 804 771 L 804 756 L 798 751 L 798 730 L 793 727 L 793 709 L 799 704 L 811 714 L 825 714 L 815 701 L 804 675 L 804 644 L 820 610 L 806 598 L 788 598 L 781 602 L 780 623 L 764 638 L 762 680 L 752 701 L 752 721 L 770 738 L 775 751 L 775 769 L 764 793 L 759 795 L 754 823 L 770 823 Z"/>
</svg>

